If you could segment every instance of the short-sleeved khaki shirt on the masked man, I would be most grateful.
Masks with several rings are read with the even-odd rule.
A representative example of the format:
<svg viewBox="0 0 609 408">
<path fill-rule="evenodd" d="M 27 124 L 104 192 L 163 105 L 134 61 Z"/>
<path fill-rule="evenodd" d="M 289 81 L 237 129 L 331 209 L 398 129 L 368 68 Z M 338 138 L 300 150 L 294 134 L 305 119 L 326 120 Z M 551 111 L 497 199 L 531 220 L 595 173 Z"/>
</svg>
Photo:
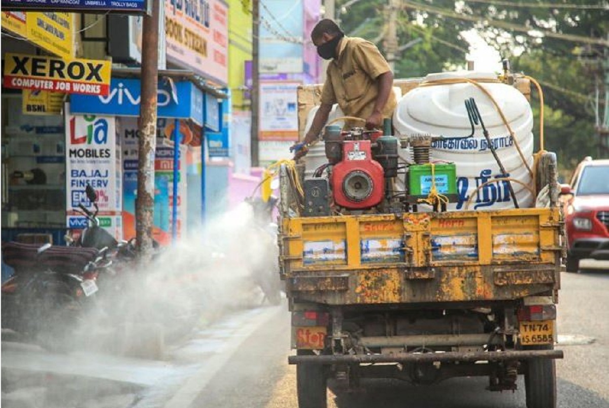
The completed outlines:
<svg viewBox="0 0 609 408">
<path fill-rule="evenodd" d="M 375 44 L 363 38 L 343 37 L 339 57 L 328 65 L 321 102 L 325 105 L 338 103 L 346 116 L 368 119 L 378 95 L 376 79 L 389 71 L 389 64 Z M 392 118 L 396 104 L 395 94 L 391 91 L 382 110 L 384 118 Z M 351 122 L 348 125 L 363 127 L 364 123 Z"/>
</svg>

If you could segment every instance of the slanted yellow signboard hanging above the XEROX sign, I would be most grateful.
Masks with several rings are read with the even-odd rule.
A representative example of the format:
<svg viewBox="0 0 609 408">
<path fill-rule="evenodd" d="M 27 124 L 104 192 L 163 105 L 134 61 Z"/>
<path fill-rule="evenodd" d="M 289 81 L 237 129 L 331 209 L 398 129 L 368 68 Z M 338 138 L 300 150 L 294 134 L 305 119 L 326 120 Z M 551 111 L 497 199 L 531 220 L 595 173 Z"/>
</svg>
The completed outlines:
<svg viewBox="0 0 609 408">
<path fill-rule="evenodd" d="M 7 10 L 5 2 L 5 0 L 2 0 L 2 29 L 27 38 L 27 40 L 52 54 L 63 58 L 74 57 L 72 38 L 74 15 L 71 13 L 54 13 L 52 11 L 57 10 L 55 7 L 52 7 L 52 11 L 49 10 L 44 13 L 7 12 L 5 11 Z M 39 3 L 28 2 L 28 4 Z"/>
</svg>

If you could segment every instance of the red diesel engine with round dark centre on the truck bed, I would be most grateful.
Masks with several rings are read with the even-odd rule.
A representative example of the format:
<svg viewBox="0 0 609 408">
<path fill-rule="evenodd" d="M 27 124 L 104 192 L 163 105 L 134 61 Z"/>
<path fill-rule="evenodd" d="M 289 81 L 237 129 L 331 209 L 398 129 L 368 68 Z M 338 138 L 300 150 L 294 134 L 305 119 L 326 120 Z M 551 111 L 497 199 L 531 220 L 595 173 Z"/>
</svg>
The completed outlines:
<svg viewBox="0 0 609 408">
<path fill-rule="evenodd" d="M 331 185 L 336 205 L 349 209 L 370 208 L 384 197 L 384 172 L 372 160 L 370 140 L 342 142 L 342 161 L 334 166 Z"/>
</svg>

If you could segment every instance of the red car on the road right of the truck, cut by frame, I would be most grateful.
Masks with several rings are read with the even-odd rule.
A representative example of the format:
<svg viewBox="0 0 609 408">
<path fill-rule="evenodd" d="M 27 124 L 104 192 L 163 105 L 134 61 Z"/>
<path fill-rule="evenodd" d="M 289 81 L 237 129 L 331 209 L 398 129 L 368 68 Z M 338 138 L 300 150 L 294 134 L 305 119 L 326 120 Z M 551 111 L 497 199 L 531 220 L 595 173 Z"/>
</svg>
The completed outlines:
<svg viewBox="0 0 609 408">
<path fill-rule="evenodd" d="M 561 194 L 565 197 L 567 272 L 577 272 L 580 259 L 609 259 L 609 160 L 586 157 Z"/>
</svg>

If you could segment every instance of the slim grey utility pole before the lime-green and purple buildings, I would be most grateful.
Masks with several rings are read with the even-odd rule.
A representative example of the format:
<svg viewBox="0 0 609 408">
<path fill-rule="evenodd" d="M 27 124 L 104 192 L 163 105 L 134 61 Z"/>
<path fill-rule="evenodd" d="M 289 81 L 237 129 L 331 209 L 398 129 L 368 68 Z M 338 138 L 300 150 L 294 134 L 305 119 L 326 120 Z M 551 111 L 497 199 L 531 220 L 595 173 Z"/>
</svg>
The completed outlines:
<svg viewBox="0 0 609 408">
<path fill-rule="evenodd" d="M 252 1 L 252 133 L 250 134 L 250 148 L 252 149 L 252 166 L 258 167 L 259 151 L 258 151 L 258 133 L 260 130 L 260 122 L 258 113 L 260 111 L 260 4 L 259 0 Z"/>
</svg>

